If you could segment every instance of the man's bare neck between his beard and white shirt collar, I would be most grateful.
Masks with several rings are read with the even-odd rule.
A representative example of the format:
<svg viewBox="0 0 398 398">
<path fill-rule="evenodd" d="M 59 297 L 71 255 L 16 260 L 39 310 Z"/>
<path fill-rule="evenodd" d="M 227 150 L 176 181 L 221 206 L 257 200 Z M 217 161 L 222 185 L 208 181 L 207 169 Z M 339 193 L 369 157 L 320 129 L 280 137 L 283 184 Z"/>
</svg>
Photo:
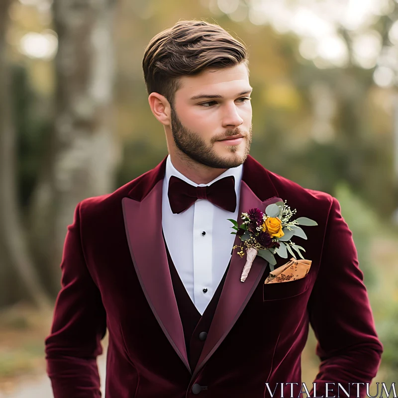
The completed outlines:
<svg viewBox="0 0 398 398">
<path fill-rule="evenodd" d="M 177 171 L 196 184 L 208 184 L 228 169 L 215 169 L 193 160 L 181 159 L 170 154 L 170 160 Z"/>
</svg>

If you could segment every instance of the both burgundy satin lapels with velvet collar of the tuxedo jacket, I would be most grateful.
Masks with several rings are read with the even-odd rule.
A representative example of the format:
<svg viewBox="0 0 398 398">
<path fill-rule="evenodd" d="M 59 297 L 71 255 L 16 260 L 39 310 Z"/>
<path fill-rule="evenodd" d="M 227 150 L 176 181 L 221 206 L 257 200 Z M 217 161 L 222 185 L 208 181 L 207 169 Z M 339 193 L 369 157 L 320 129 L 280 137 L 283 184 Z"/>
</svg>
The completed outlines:
<svg viewBox="0 0 398 398">
<path fill-rule="evenodd" d="M 162 237 L 165 170 L 166 158 L 153 170 L 133 181 L 128 197 L 122 199 L 124 225 L 131 258 L 145 297 L 166 337 L 192 374 Z M 264 209 L 266 205 L 282 200 L 277 195 L 269 172 L 249 155 L 243 165 L 238 214 L 252 207 Z M 234 245 L 240 243 L 236 236 Z M 246 281 L 240 282 L 245 261 L 246 256 L 241 259 L 234 250 L 192 380 L 238 319 L 268 265 L 264 259 L 256 257 Z"/>
</svg>

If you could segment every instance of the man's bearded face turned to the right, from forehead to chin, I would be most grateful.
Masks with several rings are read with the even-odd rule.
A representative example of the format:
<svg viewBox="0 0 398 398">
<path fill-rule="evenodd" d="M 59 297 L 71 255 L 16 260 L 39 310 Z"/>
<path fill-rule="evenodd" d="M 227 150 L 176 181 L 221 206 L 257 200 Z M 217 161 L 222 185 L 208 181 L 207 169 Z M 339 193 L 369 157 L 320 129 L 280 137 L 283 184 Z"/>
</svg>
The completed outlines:
<svg viewBox="0 0 398 398">
<path fill-rule="evenodd" d="M 196 76 L 181 77 L 180 81 L 181 88 L 171 107 L 177 148 L 195 162 L 212 168 L 241 165 L 252 141 L 252 88 L 246 66 L 204 70 Z M 236 135 L 241 138 L 225 140 Z"/>
</svg>

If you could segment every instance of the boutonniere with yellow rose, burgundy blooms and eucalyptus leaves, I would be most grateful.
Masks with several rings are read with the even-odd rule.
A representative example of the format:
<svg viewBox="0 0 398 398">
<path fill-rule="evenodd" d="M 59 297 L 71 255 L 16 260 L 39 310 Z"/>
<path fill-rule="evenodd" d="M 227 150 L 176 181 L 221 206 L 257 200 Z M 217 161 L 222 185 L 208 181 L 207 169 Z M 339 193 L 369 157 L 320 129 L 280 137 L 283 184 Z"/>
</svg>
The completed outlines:
<svg viewBox="0 0 398 398">
<path fill-rule="evenodd" d="M 235 245 L 232 249 L 240 248 L 237 254 L 242 258 L 243 249 L 246 247 L 247 260 L 243 268 L 241 282 L 244 282 L 249 274 L 254 258 L 259 255 L 269 262 L 271 271 L 274 271 L 276 265 L 275 254 L 287 258 L 289 253 L 297 260 L 296 254 L 304 259 L 300 250 L 305 252 L 304 248 L 291 241 L 293 236 L 307 239 L 305 232 L 299 225 L 312 226 L 318 225 L 314 220 L 307 217 L 298 217 L 292 220 L 292 216 L 297 212 L 291 210 L 290 206 L 283 201 L 269 204 L 265 211 L 258 207 L 251 208 L 248 212 L 241 214 L 243 223 L 238 223 L 228 218 L 233 223 L 231 228 L 236 232 L 242 241 L 242 245 Z"/>
</svg>

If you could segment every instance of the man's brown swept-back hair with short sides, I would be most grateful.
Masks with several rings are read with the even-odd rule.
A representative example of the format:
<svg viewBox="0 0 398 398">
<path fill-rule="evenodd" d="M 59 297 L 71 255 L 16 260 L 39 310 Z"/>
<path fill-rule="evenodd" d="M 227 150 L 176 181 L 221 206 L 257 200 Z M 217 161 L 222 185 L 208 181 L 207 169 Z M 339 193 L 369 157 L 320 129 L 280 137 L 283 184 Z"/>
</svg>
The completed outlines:
<svg viewBox="0 0 398 398">
<path fill-rule="evenodd" d="M 219 25 L 191 20 L 179 21 L 153 37 L 145 49 L 142 69 L 148 95 L 159 93 L 173 106 L 181 87 L 179 77 L 241 63 L 248 67 L 244 44 Z"/>
</svg>

